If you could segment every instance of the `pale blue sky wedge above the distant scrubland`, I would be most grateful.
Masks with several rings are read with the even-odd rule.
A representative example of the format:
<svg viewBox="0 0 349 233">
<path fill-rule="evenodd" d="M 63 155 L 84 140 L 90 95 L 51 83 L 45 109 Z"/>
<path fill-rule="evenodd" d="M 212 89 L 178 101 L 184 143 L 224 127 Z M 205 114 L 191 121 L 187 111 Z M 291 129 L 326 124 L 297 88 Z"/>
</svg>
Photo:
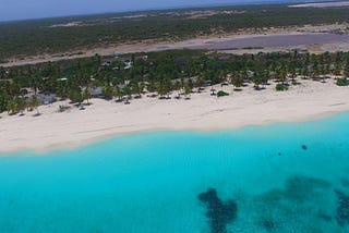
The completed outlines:
<svg viewBox="0 0 349 233">
<path fill-rule="evenodd" d="M 0 0 L 0 21 L 273 1 L 286 0 Z"/>
</svg>

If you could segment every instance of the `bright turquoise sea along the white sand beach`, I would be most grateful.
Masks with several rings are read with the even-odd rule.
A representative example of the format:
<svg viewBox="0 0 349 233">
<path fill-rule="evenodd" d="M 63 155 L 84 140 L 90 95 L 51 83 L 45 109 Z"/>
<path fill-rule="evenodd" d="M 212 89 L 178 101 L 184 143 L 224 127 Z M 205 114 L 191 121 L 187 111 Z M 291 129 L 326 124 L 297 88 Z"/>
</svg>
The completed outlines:
<svg viewBox="0 0 349 233">
<path fill-rule="evenodd" d="M 348 142 L 342 113 L 3 156 L 0 232 L 349 232 Z"/>
</svg>

